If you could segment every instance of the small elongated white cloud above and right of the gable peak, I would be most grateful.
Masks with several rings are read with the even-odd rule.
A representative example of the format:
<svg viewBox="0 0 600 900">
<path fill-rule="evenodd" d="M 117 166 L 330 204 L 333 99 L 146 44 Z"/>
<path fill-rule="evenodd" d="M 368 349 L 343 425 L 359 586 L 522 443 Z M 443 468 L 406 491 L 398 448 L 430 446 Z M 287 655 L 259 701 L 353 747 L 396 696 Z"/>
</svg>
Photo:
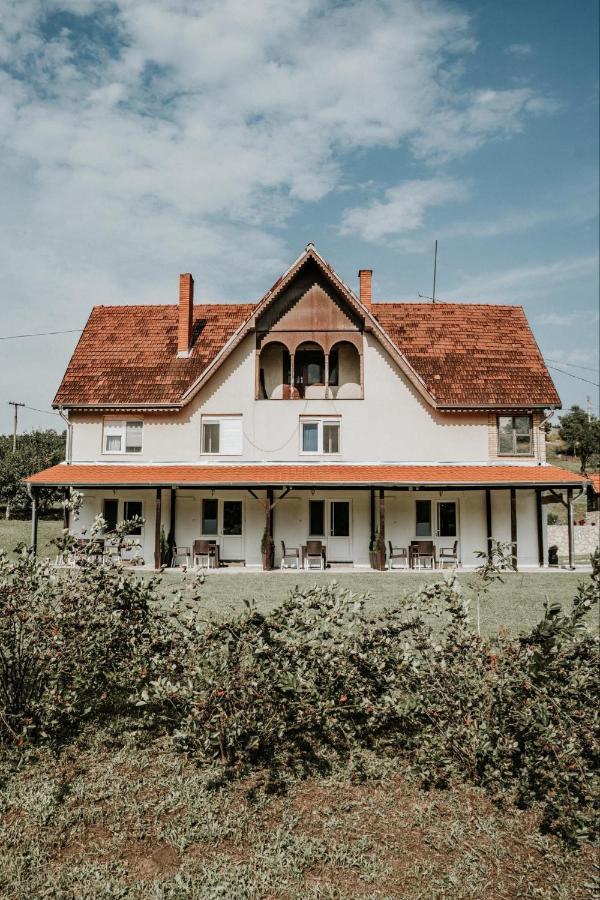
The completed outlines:
<svg viewBox="0 0 600 900">
<path fill-rule="evenodd" d="M 366 241 L 417 231 L 424 225 L 428 209 L 450 200 L 462 200 L 467 188 L 451 178 L 405 181 L 385 191 L 383 200 L 347 209 L 342 216 L 342 234 L 357 234 Z"/>
</svg>

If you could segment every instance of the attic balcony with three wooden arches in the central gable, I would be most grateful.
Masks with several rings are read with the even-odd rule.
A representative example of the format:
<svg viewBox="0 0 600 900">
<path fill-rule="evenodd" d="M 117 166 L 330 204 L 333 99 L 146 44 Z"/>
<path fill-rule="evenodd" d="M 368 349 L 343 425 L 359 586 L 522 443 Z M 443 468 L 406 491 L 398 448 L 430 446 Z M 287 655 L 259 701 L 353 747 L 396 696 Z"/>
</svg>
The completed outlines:
<svg viewBox="0 0 600 900">
<path fill-rule="evenodd" d="M 325 338 L 325 336 L 324 336 Z M 257 400 L 362 400 L 362 344 L 354 340 L 269 339 L 257 353 Z"/>
</svg>

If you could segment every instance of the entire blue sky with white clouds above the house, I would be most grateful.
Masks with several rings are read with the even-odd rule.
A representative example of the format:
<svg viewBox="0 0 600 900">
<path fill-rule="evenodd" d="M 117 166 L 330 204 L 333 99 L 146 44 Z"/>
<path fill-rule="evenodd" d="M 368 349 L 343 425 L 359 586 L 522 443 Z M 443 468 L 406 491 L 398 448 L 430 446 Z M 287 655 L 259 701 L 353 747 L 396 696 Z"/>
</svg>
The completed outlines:
<svg viewBox="0 0 600 900">
<path fill-rule="evenodd" d="M 186 271 L 200 302 L 255 301 L 309 241 L 411 301 L 437 239 L 437 297 L 523 305 L 563 406 L 596 409 L 597 16 L 0 0 L 0 433 L 9 400 L 61 427 L 94 304 L 175 303 Z"/>
</svg>

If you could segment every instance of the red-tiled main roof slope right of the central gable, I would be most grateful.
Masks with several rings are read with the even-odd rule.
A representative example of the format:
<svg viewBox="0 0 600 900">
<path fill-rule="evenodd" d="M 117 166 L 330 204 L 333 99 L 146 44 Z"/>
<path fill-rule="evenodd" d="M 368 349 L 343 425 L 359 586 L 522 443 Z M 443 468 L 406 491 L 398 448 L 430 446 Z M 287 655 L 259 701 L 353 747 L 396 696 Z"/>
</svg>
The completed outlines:
<svg viewBox="0 0 600 900">
<path fill-rule="evenodd" d="M 520 306 L 374 303 L 437 405 L 560 406 Z"/>
</svg>

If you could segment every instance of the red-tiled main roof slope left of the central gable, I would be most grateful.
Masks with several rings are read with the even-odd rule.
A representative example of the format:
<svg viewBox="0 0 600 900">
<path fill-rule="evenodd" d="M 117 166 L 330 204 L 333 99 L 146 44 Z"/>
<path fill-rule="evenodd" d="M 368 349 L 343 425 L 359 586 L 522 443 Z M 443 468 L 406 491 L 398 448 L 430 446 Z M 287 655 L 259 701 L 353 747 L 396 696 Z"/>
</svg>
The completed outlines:
<svg viewBox="0 0 600 900">
<path fill-rule="evenodd" d="M 178 405 L 253 309 L 252 303 L 196 305 L 192 353 L 178 359 L 176 305 L 95 306 L 54 405 Z"/>
</svg>

